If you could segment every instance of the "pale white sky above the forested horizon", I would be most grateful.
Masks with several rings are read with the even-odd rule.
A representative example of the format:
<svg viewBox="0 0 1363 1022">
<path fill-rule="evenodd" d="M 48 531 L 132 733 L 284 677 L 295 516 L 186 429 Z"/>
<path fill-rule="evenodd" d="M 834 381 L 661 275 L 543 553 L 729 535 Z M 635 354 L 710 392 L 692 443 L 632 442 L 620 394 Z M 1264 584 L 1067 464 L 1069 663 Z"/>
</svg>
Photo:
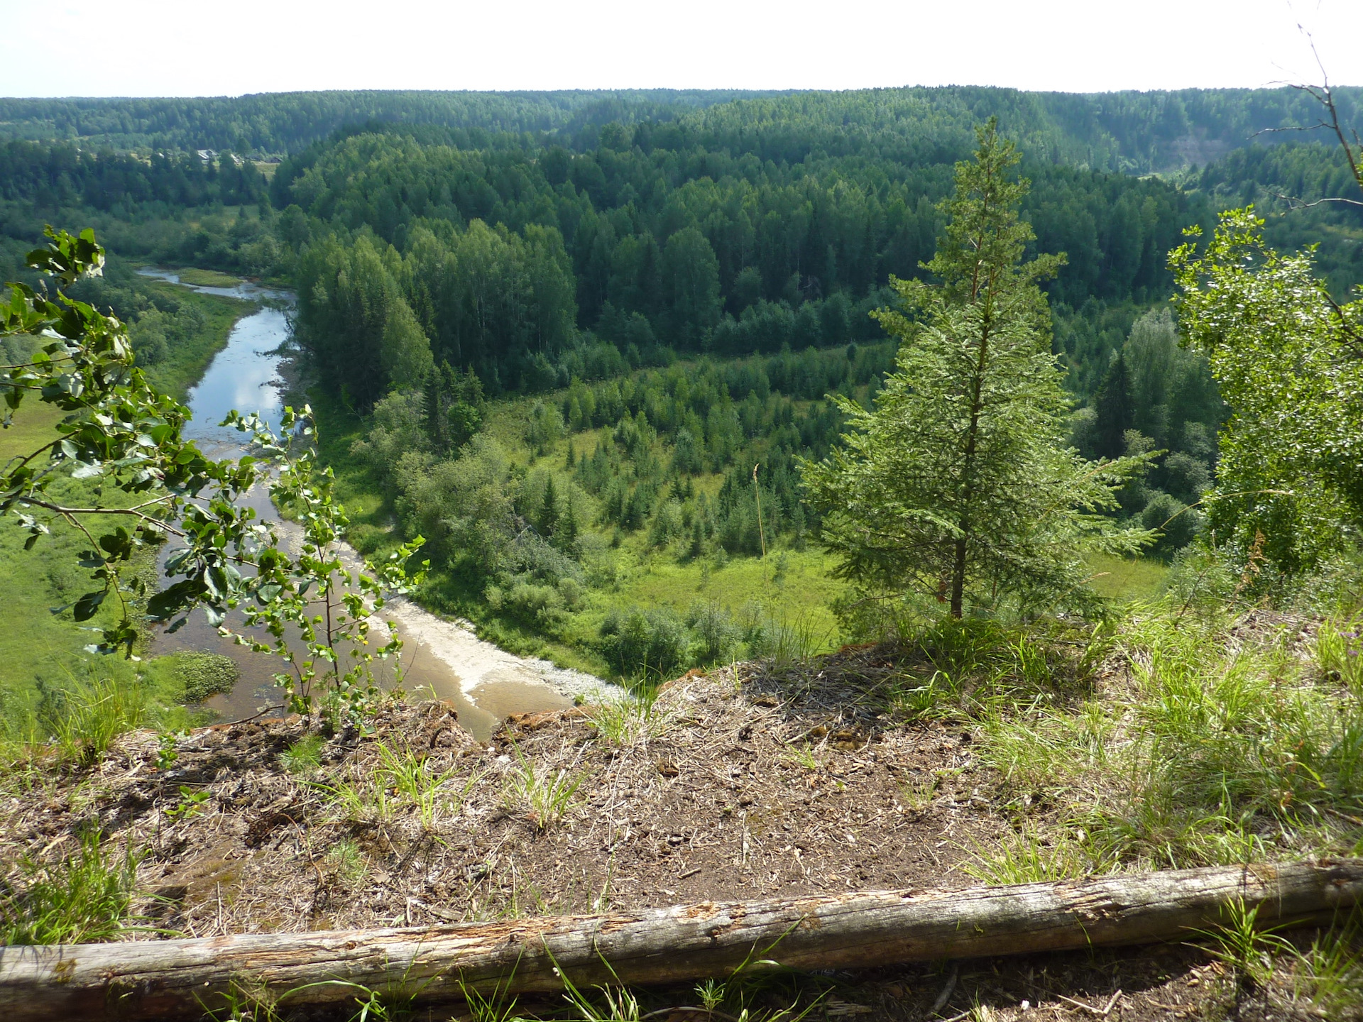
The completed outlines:
<svg viewBox="0 0 1363 1022">
<path fill-rule="evenodd" d="M 0 0 L 0 95 L 1363 84 L 1363 0 Z"/>
</svg>

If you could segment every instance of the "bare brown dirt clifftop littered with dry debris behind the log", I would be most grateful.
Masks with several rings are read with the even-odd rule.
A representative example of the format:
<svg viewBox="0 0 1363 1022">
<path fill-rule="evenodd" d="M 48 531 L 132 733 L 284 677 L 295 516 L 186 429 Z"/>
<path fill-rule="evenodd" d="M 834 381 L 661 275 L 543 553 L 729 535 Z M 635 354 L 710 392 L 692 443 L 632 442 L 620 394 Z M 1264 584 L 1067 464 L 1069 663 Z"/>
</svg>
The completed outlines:
<svg viewBox="0 0 1363 1022">
<path fill-rule="evenodd" d="M 20 857 L 59 858 L 98 829 L 146 849 L 139 909 L 184 936 L 972 886 L 961 865 L 1009 819 L 968 728 L 887 709 L 886 679 L 905 669 L 874 647 L 785 672 L 692 672 L 647 711 L 510 718 L 488 744 L 448 704 L 395 703 L 364 733 L 313 739 L 312 759 L 289 752 L 307 745 L 297 718 L 198 730 L 173 762 L 139 732 L 5 799 L 0 861 L 15 880 Z M 649 996 L 654 1018 L 696 1022 L 694 992 Z M 751 1004 L 814 1004 L 810 1018 L 1319 1017 L 1246 999 L 1183 944 L 778 978 Z"/>
</svg>

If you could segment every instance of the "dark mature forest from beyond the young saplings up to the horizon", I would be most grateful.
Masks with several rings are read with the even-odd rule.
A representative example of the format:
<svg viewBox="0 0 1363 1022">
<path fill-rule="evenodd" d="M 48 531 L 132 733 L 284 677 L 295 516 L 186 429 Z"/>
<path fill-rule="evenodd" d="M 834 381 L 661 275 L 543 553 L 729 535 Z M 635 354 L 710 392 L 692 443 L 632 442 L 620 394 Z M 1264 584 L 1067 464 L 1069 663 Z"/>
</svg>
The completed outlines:
<svg viewBox="0 0 1363 1022">
<path fill-rule="evenodd" d="M 1348 117 L 1353 93 L 1338 101 Z M 476 367 L 496 392 L 566 383 L 563 358 L 582 331 L 632 347 L 637 362 L 661 349 L 747 354 L 874 339 L 867 312 L 890 275 L 920 274 L 950 168 L 992 114 L 1018 139 L 1033 181 L 1024 217 L 1035 251 L 1070 256 L 1048 296 L 1056 350 L 1081 397 L 1096 392 L 1144 308 L 1168 294 L 1164 253 L 1178 232 L 1209 225 L 1223 206 L 1254 200 L 1280 214 L 1268 228 L 1276 244 L 1306 232 L 1322 240 L 1321 268 L 1341 294 L 1358 278 L 1358 211 L 1289 208 L 1291 198 L 1338 192 L 1348 176 L 1338 153 L 1299 134 L 1257 135 L 1313 123 L 1310 97 L 1291 89 L 0 101 L 0 136 L 45 139 L 0 151 L 0 228 L 31 237 L 38 210 L 101 210 L 116 232 L 142 225 L 110 234 L 116 251 L 284 277 L 334 273 L 316 252 L 300 262 L 303 251 L 334 238 L 334 262 L 335 245 L 369 233 L 376 251 L 402 256 L 403 301 L 435 360 Z M 184 153 L 196 147 L 217 151 Z M 266 153 L 290 154 L 269 185 L 249 159 Z M 1141 176 L 1161 169 L 1182 170 Z M 217 230 L 196 219 L 173 244 L 174 232 L 150 223 L 249 206 L 259 218 Z M 526 248 L 530 228 L 537 240 Z M 424 238 L 420 251 L 412 237 Z M 481 252 L 484 285 L 523 279 L 522 248 L 562 248 L 566 259 L 540 270 L 567 275 L 537 270 L 533 294 L 470 312 L 476 275 L 451 270 L 458 260 L 436 243 Z M 463 312 L 448 294 L 442 304 L 420 293 L 432 286 L 436 271 L 421 268 L 432 259 L 458 278 Z M 352 391 L 390 382 L 380 373 Z"/>
</svg>

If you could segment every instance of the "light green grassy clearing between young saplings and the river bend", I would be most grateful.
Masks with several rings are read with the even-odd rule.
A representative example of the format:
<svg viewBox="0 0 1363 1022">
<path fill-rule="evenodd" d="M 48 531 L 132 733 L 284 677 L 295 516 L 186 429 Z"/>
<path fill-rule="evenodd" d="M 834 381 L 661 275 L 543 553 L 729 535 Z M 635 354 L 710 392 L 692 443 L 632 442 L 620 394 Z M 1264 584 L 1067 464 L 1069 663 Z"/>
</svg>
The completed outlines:
<svg viewBox="0 0 1363 1022">
<path fill-rule="evenodd" d="M 311 397 L 322 427 L 322 456 L 337 473 L 338 495 L 350 511 L 350 541 L 365 553 L 391 548 L 399 538 L 397 508 L 387 503 L 373 473 L 350 454 L 352 444 L 365 435 L 365 421 L 326 394 Z M 578 560 L 585 576 L 579 591 L 564 600 L 563 608 L 532 612 L 514 598 L 503 602 L 489 595 L 481 580 L 453 576 L 436 564 L 420 594 L 423 604 L 474 621 L 484 638 L 503 649 L 601 676 L 661 679 L 692 665 L 711 666 L 733 657 L 811 655 L 842 642 L 833 606 L 846 586 L 830 576 L 833 559 L 814 546 L 782 536 L 769 537 L 766 556 L 731 555 L 713 544 L 696 556 L 686 536 L 660 541 L 653 525 L 632 531 L 602 525 L 601 501 L 579 488 L 568 459 L 570 450 L 575 458 L 586 458 L 597 443 L 609 442 L 611 431 L 587 429 L 537 448 L 525 439 L 536 405 L 556 399 L 495 401 L 484 433 L 525 481 L 532 507 L 545 478 L 552 478 L 557 493 L 575 495 Z M 671 448 L 658 440 L 652 454 L 667 463 Z M 686 485 L 688 492 L 714 497 L 722 481 L 720 473 L 703 473 L 688 476 Z M 533 510 L 525 514 L 533 516 Z M 1154 561 L 1116 557 L 1096 557 L 1093 571 L 1097 589 L 1114 602 L 1154 597 L 1167 574 Z M 556 600 L 557 594 L 545 598 Z M 647 620 L 641 620 L 641 613 Z M 649 653 L 631 649 L 626 655 L 612 647 L 608 632 L 613 628 L 634 628 L 641 636 L 635 645 L 647 646 Z M 652 642 L 642 640 L 645 632 Z M 677 643 L 686 653 L 668 655 Z M 658 662 L 672 666 L 660 669 Z"/>
</svg>

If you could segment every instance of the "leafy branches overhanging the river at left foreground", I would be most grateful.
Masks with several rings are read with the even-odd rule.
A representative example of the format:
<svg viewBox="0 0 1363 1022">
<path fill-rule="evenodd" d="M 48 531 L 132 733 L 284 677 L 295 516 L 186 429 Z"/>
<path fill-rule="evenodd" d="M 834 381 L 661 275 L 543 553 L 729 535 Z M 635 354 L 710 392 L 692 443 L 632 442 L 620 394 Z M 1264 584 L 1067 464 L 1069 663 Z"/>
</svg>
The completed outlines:
<svg viewBox="0 0 1363 1022">
<path fill-rule="evenodd" d="M 20 362 L 0 367 L 0 392 L 11 413 L 33 395 L 65 417 L 57 424 L 56 439 L 5 463 L 0 512 L 12 515 L 29 533 L 26 548 L 50 534 L 57 522 L 89 542 L 80 564 L 97 587 L 75 600 L 74 617 L 94 619 L 105 601 L 119 606 L 117 623 L 101 628 L 102 642 L 91 649 L 123 649 L 131 655 L 139 639 L 134 621 L 140 616 L 134 605 L 143 600 L 146 613 L 159 620 L 203 605 L 219 628 L 226 612 L 240 606 L 247 625 L 260 625 L 273 642 L 241 634 L 239 642 L 289 662 L 293 673 L 284 676 L 284 684 L 294 709 L 313 709 L 312 684 L 319 677 L 346 711 L 360 709 L 373 690 L 373 657 L 401 646 L 390 634 L 378 651 L 364 649 L 369 616 L 382 606 L 383 591 L 405 586 L 402 564 L 420 542 L 399 549 L 372 575 L 346 571 L 338 555 L 346 519 L 334 500 L 330 473 L 315 471 L 312 451 L 290 456 L 255 417 L 233 413 L 228 421 L 254 435 L 266 465 L 279 466 L 271 478 L 275 504 L 303 522 L 298 556 L 281 551 L 274 530 L 255 522 L 254 510 L 236 503 L 267 474 L 258 458 L 215 462 L 187 442 L 183 428 L 189 410 L 158 394 L 135 367 L 123 323 L 65 293 L 102 270 L 105 255 L 94 233 L 72 237 L 49 228 L 48 237 L 48 248 L 31 252 L 29 264 L 57 282 L 56 294 L 11 283 L 8 301 L 0 305 L 0 335 L 38 337 L 41 347 Z M 298 428 L 311 437 L 308 414 L 304 410 L 300 417 L 289 409 L 285 429 Z M 53 481 L 68 471 L 72 478 L 98 478 L 95 496 L 112 491 L 138 503 L 104 497 L 89 507 L 67 504 Z M 99 527 L 109 519 L 117 525 L 98 537 L 90 531 L 91 525 Z M 135 568 L 142 555 L 168 536 L 183 544 L 165 563 L 166 574 L 179 580 L 151 593 Z M 318 594 L 309 597 L 313 585 Z M 245 600 L 251 604 L 243 606 Z M 322 615 L 313 613 L 318 600 L 324 604 Z M 303 660 L 285 638 L 289 625 L 298 628 L 307 646 Z M 348 669 L 341 666 L 338 645 L 348 646 Z M 98 748 L 102 741 L 87 744 Z"/>
</svg>

